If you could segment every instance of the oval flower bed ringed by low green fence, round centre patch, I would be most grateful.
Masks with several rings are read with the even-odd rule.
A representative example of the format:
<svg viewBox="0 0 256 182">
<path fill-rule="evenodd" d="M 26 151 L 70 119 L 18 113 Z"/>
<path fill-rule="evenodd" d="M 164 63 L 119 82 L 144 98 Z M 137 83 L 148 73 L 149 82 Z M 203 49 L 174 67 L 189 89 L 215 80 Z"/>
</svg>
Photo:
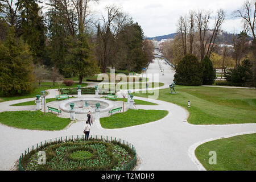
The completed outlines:
<svg viewBox="0 0 256 182">
<path fill-rule="evenodd" d="M 39 164 L 39 151 L 45 152 L 46 164 Z M 28 149 L 19 159 L 19 170 L 26 171 L 131 170 L 135 165 L 136 152 L 131 144 L 93 138 L 46 142 L 35 150 Z"/>
</svg>

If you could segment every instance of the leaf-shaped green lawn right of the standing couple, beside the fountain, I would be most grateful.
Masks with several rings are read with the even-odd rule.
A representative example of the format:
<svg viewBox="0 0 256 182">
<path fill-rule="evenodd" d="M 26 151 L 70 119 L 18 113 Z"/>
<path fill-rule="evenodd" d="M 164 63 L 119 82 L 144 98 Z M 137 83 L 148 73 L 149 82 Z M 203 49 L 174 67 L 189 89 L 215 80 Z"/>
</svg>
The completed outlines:
<svg viewBox="0 0 256 182">
<path fill-rule="evenodd" d="M 166 117 L 166 110 L 132 110 L 125 113 L 114 114 L 110 117 L 100 118 L 101 126 L 105 129 L 119 129 L 123 127 L 142 125 L 153 121 L 158 121 Z"/>
</svg>

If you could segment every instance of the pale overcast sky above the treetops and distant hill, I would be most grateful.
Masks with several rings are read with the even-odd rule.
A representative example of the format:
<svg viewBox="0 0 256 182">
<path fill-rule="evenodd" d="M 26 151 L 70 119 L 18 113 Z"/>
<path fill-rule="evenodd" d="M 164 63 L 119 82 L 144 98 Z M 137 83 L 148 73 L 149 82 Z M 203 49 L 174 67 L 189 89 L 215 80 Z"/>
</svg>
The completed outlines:
<svg viewBox="0 0 256 182">
<path fill-rule="evenodd" d="M 189 10 L 210 10 L 213 14 L 218 9 L 226 12 L 226 20 L 222 30 L 240 32 L 241 19 L 233 18 L 233 11 L 241 9 L 244 0 L 100 0 L 94 6 L 97 14 L 104 13 L 107 5 L 122 7 L 129 13 L 134 22 L 141 24 L 144 35 L 148 37 L 172 34 L 177 31 L 179 17 L 189 13 Z M 209 27 L 211 28 L 211 27 Z"/>
</svg>

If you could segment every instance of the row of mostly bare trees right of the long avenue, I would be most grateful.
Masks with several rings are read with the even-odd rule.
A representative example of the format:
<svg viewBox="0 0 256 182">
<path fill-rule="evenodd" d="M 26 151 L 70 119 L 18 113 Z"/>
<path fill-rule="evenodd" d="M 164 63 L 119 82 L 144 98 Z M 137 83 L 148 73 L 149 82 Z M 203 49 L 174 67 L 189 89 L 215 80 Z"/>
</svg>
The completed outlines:
<svg viewBox="0 0 256 182">
<path fill-rule="evenodd" d="M 225 20 L 223 10 L 217 11 L 212 28 L 209 28 L 209 23 L 213 16 L 208 11 L 190 11 L 189 15 L 180 17 L 177 24 L 178 34 L 175 40 L 166 43 L 162 48 L 164 56 L 176 66 L 176 81 L 181 84 L 189 84 L 193 82 L 192 80 L 196 80 L 194 85 L 205 84 L 205 81 L 203 81 L 205 69 L 203 62 L 205 56 L 207 56 L 209 60 L 212 60 L 210 64 L 213 64 L 215 68 L 222 69 L 221 77 L 225 74 L 232 85 L 256 86 L 256 2 L 245 1 L 243 8 L 235 11 L 234 16 L 242 18 L 243 31 L 240 34 L 233 34 L 232 47 L 229 47 L 227 42 L 218 40 L 220 34 L 222 34 L 221 25 Z M 222 46 L 218 45 L 220 43 Z M 188 53 L 189 55 L 195 55 L 195 57 L 189 59 L 187 57 Z M 198 73 L 195 73 L 196 78 L 192 76 L 193 74 L 189 70 L 181 74 L 180 68 L 184 68 L 184 57 L 193 60 L 195 65 L 190 65 L 189 62 L 189 66 L 196 67 L 194 69 Z M 180 63 L 181 60 L 183 60 L 183 63 Z M 196 60 L 199 60 L 201 66 L 199 63 L 197 64 Z M 185 71 L 185 69 L 183 70 Z M 209 72 L 212 72 L 211 70 L 209 69 Z M 182 83 L 179 80 L 182 77 L 180 74 L 187 75 L 187 77 L 191 75 L 191 78 L 189 78 L 189 81 Z M 239 76 L 241 78 L 237 78 Z M 236 83 L 236 81 L 239 83 Z"/>
</svg>

